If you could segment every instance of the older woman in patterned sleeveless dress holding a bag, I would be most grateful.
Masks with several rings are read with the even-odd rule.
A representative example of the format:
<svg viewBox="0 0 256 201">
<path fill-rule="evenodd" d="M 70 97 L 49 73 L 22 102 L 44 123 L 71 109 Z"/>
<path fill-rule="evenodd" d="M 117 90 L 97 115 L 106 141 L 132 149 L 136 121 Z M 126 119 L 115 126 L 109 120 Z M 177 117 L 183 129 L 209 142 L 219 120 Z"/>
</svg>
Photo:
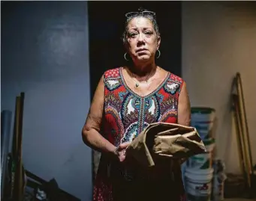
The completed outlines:
<svg viewBox="0 0 256 201">
<path fill-rule="evenodd" d="M 168 165 L 143 170 L 125 158 L 128 144 L 150 123 L 190 123 L 185 81 L 155 64 L 161 55 L 155 13 L 139 9 L 125 16 L 131 65 L 104 72 L 83 127 L 84 143 L 101 152 L 93 200 L 184 200 L 179 161 L 170 173 Z"/>
</svg>

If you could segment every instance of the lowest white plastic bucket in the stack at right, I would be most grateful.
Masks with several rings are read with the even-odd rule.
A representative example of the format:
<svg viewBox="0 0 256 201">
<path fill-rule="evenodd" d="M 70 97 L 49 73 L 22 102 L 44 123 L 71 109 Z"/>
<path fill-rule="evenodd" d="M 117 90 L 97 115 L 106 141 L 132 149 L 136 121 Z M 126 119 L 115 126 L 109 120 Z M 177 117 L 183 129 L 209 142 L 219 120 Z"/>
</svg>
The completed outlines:
<svg viewBox="0 0 256 201">
<path fill-rule="evenodd" d="M 188 201 L 209 201 L 212 193 L 213 169 L 185 170 L 185 189 Z"/>
</svg>

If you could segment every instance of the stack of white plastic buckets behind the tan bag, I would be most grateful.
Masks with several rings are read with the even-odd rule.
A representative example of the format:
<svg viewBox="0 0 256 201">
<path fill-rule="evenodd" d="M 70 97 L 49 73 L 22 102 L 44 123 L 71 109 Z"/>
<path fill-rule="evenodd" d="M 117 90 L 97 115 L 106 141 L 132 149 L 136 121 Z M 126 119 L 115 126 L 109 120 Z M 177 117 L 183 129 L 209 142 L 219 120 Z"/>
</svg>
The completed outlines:
<svg viewBox="0 0 256 201">
<path fill-rule="evenodd" d="M 191 108 L 191 126 L 206 146 L 206 153 L 188 158 L 183 167 L 183 180 L 188 201 L 220 201 L 219 185 L 215 187 L 215 109 Z M 218 161 L 218 166 L 220 161 Z M 218 167 L 218 169 L 220 169 Z M 222 168 L 222 171 L 224 167 Z M 218 179 L 217 179 L 218 180 Z M 224 182 L 221 182 L 223 185 Z M 216 189 L 215 189 L 216 188 Z M 215 194 L 218 196 L 215 196 Z M 223 194 L 221 192 L 221 194 Z"/>
</svg>

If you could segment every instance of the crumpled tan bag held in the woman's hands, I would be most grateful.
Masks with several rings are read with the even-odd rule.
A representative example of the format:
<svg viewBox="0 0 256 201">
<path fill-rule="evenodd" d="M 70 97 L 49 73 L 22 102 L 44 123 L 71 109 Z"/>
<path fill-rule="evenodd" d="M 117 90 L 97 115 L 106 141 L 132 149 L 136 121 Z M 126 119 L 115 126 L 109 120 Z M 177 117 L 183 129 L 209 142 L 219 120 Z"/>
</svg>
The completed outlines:
<svg viewBox="0 0 256 201">
<path fill-rule="evenodd" d="M 175 123 L 152 123 L 128 146 L 126 155 L 143 167 L 155 166 L 158 158 L 189 158 L 206 152 L 197 129 Z"/>
</svg>

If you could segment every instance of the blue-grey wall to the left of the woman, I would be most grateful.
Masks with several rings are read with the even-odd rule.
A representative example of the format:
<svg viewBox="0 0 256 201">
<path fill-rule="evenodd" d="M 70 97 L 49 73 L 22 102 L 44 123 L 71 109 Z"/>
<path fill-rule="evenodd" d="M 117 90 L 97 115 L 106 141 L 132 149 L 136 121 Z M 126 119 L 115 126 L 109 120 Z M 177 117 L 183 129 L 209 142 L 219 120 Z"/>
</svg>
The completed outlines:
<svg viewBox="0 0 256 201">
<path fill-rule="evenodd" d="M 1 2 L 1 104 L 25 92 L 23 163 L 59 188 L 92 200 L 87 1 Z"/>
</svg>

